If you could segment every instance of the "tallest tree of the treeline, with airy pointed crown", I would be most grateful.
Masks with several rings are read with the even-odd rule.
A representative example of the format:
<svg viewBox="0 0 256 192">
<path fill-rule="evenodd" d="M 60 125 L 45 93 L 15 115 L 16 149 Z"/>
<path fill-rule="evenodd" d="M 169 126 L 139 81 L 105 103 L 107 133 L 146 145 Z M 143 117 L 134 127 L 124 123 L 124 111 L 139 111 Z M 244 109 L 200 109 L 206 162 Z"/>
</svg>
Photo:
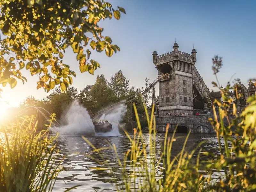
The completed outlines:
<svg viewBox="0 0 256 192">
<path fill-rule="evenodd" d="M 130 80 L 127 80 L 122 71 L 119 70 L 115 76 L 111 76 L 109 83 L 110 89 L 118 99 L 124 98 L 128 93 Z"/>
</svg>

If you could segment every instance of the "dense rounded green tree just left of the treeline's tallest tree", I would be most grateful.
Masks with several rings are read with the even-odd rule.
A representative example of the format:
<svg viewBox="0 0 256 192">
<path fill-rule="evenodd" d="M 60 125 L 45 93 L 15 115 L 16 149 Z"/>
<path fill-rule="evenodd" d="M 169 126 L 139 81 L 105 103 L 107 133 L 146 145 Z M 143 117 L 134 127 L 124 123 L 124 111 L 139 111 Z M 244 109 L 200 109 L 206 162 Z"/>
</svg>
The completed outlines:
<svg viewBox="0 0 256 192">
<path fill-rule="evenodd" d="M 95 110 L 103 108 L 109 104 L 113 92 L 108 87 L 108 80 L 103 74 L 98 75 L 96 83 L 91 90 L 92 98 L 96 101 Z"/>
</svg>

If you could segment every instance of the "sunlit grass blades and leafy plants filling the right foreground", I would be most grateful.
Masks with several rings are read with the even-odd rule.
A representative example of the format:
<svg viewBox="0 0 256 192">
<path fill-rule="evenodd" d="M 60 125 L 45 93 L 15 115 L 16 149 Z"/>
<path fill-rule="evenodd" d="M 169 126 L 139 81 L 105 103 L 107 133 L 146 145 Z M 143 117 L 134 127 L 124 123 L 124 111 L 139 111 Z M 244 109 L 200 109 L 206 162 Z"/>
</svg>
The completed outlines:
<svg viewBox="0 0 256 192">
<path fill-rule="evenodd" d="M 118 157 L 115 144 L 112 147 L 123 170 L 123 179 L 116 182 L 117 191 L 256 191 L 256 98 L 249 98 L 250 105 L 241 115 L 237 115 L 234 104 L 235 118 L 231 119 L 229 109 L 233 99 L 228 97 L 227 91 L 221 90 L 221 94 L 227 103 L 215 100 L 214 103 L 219 105 L 219 113 L 217 115 L 213 108 L 214 119 L 209 119 L 219 143 L 220 154 L 217 155 L 201 147 L 203 142 L 188 153 L 185 147 L 189 132 L 182 150 L 177 156 L 173 156 L 175 132 L 171 138 L 168 137 L 167 125 L 159 157 L 156 149 L 154 111 L 149 116 L 145 107 L 149 127 L 147 145 L 143 139 L 136 106 L 133 104 L 138 127 L 134 129 L 133 137 L 125 132 L 131 142 L 131 148 L 126 152 L 124 161 L 121 162 Z M 228 119 L 228 125 L 224 124 L 224 118 Z M 232 131 L 232 127 L 235 131 Z M 193 156 L 196 156 L 196 162 Z M 205 156 L 206 160 L 203 161 L 202 156 Z M 212 178 L 213 172 L 223 170 L 219 178 Z"/>
</svg>

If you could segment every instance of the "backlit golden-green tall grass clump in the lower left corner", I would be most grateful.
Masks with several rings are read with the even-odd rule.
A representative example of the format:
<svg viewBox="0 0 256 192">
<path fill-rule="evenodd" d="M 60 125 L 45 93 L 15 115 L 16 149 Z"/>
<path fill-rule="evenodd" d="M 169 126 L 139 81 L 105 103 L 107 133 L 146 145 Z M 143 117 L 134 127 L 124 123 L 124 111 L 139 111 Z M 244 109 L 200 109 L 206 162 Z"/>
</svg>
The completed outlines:
<svg viewBox="0 0 256 192">
<path fill-rule="evenodd" d="M 24 116 L 1 127 L 0 191 L 52 191 L 59 172 L 59 164 L 53 161 L 56 136 L 36 134 L 36 126 L 35 117 Z"/>
</svg>

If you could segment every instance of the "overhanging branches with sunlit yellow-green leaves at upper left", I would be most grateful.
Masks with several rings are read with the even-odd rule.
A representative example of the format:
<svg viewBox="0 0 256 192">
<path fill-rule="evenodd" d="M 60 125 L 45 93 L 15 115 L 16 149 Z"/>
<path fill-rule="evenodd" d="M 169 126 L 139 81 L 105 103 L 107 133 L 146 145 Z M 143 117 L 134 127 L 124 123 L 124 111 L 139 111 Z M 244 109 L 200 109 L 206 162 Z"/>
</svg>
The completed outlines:
<svg viewBox="0 0 256 192">
<path fill-rule="evenodd" d="M 121 7 L 113 9 L 108 2 L 91 0 L 9 0 L 0 1 L 0 30 L 6 36 L 0 41 L 0 84 L 11 88 L 27 79 L 21 69 L 38 75 L 37 89 L 46 92 L 60 84 L 62 91 L 72 84 L 76 73 L 63 63 L 63 54 L 72 47 L 81 73 L 93 74 L 99 63 L 89 60 L 90 47 L 111 57 L 120 51 L 108 36 L 102 36 L 100 20 L 119 20 Z M 7 57 L 10 54 L 14 57 Z M 16 66 L 19 63 L 19 67 Z M 49 71 L 48 71 L 49 70 Z M 51 73 L 50 73 L 51 71 Z"/>
</svg>

